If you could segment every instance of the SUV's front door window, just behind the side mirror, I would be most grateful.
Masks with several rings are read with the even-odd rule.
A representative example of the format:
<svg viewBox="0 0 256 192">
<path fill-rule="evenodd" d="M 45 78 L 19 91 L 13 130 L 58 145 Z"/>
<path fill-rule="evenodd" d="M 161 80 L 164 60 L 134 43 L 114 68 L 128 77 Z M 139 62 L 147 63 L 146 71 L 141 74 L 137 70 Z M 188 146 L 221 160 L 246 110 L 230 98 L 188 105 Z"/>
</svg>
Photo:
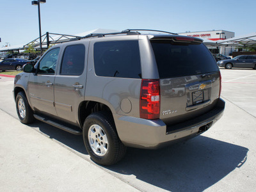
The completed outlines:
<svg viewBox="0 0 256 192">
<path fill-rule="evenodd" d="M 54 74 L 60 48 L 52 49 L 45 54 L 39 63 L 38 74 Z"/>
</svg>

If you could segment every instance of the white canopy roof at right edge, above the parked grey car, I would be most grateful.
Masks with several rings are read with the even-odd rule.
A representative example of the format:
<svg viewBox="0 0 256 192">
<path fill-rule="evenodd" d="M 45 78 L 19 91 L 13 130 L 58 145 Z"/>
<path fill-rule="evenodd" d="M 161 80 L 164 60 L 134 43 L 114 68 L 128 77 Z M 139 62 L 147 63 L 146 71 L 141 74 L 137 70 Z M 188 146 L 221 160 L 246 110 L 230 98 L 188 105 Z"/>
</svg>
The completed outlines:
<svg viewBox="0 0 256 192">
<path fill-rule="evenodd" d="M 228 38 L 216 42 L 217 46 L 232 46 L 232 45 L 252 45 L 256 44 L 256 33 L 250 33 L 248 35 Z"/>
</svg>

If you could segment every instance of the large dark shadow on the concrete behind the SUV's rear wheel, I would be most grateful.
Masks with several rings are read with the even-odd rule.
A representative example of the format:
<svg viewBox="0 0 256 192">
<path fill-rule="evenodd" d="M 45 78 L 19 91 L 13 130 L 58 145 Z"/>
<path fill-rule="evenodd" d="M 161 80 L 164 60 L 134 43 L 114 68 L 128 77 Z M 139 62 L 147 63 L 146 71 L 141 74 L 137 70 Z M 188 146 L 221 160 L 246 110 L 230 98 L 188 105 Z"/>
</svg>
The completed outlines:
<svg viewBox="0 0 256 192">
<path fill-rule="evenodd" d="M 128 148 L 120 163 L 106 168 L 168 191 L 204 191 L 243 166 L 247 152 L 248 148 L 198 136 L 159 150 Z"/>
</svg>

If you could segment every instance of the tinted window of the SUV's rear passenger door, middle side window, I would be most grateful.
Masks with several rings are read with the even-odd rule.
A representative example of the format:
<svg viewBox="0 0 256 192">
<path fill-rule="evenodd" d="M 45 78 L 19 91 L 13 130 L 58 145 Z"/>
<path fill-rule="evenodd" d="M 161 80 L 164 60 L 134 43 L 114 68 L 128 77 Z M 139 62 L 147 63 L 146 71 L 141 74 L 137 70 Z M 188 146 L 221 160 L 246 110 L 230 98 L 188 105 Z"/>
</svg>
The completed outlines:
<svg viewBox="0 0 256 192">
<path fill-rule="evenodd" d="M 61 61 L 60 75 L 80 76 L 84 71 L 84 45 L 66 47 Z"/>
</svg>

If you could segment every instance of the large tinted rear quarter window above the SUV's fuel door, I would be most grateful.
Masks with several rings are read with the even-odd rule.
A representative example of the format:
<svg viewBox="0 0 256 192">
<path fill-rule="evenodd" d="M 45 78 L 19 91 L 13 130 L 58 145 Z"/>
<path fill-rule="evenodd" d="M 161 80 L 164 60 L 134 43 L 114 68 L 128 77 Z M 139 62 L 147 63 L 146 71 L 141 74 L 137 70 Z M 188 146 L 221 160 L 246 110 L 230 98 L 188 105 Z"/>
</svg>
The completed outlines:
<svg viewBox="0 0 256 192">
<path fill-rule="evenodd" d="M 138 41 L 95 43 L 94 67 L 97 76 L 141 78 Z"/>
</svg>

